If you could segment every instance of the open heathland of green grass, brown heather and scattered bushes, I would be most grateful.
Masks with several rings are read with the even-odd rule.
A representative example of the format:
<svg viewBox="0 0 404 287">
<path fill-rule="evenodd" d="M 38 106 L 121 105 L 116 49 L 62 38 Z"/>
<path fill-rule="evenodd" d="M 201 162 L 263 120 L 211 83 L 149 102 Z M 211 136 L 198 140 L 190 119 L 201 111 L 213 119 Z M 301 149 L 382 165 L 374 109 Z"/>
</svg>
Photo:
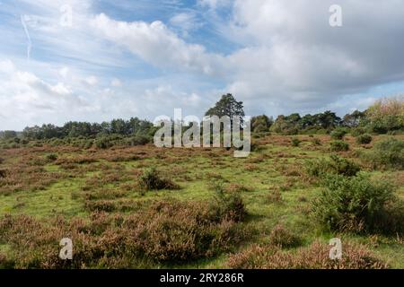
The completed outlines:
<svg viewBox="0 0 404 287">
<path fill-rule="evenodd" d="M 398 102 L 331 126 L 307 124 L 330 114 L 256 117 L 247 158 L 157 148 L 149 130 L 143 141 L 7 132 L 0 268 L 404 268 Z M 63 238 L 72 260 L 58 257 Z"/>
</svg>

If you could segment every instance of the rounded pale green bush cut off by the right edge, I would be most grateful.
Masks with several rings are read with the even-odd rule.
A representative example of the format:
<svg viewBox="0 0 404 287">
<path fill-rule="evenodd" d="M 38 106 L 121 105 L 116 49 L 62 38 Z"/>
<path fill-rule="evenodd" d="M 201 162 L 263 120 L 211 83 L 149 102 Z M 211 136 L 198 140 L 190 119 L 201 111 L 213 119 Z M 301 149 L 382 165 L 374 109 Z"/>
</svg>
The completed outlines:
<svg viewBox="0 0 404 287">
<path fill-rule="evenodd" d="M 388 138 L 375 143 L 373 150 L 363 153 L 365 161 L 370 161 L 373 168 L 404 170 L 404 141 Z"/>
</svg>

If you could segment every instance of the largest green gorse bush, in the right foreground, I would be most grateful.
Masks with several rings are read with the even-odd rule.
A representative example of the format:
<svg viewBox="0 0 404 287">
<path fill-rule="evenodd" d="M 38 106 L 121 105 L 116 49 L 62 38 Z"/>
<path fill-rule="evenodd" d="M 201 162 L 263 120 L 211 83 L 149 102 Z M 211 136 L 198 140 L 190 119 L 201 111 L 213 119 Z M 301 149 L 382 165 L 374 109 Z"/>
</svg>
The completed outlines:
<svg viewBox="0 0 404 287">
<path fill-rule="evenodd" d="M 377 231 L 380 217 L 394 201 L 395 189 L 389 182 L 369 178 L 328 175 L 321 196 L 313 202 L 314 218 L 328 230 Z"/>
</svg>

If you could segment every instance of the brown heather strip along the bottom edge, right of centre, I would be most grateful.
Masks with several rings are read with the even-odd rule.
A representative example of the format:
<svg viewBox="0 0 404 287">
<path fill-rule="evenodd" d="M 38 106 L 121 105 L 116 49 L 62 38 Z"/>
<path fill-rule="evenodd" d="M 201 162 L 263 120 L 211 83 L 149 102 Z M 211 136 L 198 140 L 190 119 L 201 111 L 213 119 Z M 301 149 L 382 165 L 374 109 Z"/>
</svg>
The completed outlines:
<svg viewBox="0 0 404 287">
<path fill-rule="evenodd" d="M 329 245 L 315 241 L 297 252 L 267 245 L 252 245 L 234 254 L 227 261 L 234 269 L 384 269 L 389 265 L 373 255 L 368 248 L 344 241 L 343 257 L 329 259 Z"/>
</svg>

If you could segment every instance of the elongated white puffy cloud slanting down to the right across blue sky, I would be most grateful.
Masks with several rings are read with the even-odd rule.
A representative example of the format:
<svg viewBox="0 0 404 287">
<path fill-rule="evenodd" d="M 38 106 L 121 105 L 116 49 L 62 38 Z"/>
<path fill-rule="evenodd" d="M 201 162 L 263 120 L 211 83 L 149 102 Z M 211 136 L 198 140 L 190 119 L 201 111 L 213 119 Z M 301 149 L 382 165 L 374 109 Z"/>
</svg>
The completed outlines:
<svg viewBox="0 0 404 287">
<path fill-rule="evenodd" d="M 180 39 L 160 21 L 119 22 L 101 13 L 93 19 L 92 27 L 106 39 L 158 67 L 213 75 L 223 60 L 219 55 L 207 53 L 201 45 Z"/>
</svg>

